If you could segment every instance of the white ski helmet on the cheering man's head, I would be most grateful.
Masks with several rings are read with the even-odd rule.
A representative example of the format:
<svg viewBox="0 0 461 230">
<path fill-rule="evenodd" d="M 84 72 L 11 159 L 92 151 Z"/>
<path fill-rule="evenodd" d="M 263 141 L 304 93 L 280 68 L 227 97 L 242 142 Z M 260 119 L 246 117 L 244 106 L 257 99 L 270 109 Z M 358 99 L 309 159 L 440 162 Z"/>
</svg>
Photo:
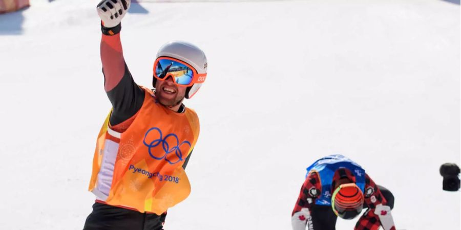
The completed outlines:
<svg viewBox="0 0 461 230">
<path fill-rule="evenodd" d="M 195 68 L 198 74 L 206 74 L 206 56 L 200 48 L 195 45 L 185 42 L 185 41 L 170 41 L 162 45 L 160 50 L 158 50 L 157 57 L 172 57 L 187 64 L 190 64 Z M 154 66 L 155 68 L 155 66 Z M 155 83 L 157 79 L 153 77 L 152 85 L 155 88 Z M 195 83 L 192 86 L 187 87 L 185 92 L 185 98 L 189 99 L 197 93 L 197 90 L 202 86 L 202 83 Z"/>
</svg>

